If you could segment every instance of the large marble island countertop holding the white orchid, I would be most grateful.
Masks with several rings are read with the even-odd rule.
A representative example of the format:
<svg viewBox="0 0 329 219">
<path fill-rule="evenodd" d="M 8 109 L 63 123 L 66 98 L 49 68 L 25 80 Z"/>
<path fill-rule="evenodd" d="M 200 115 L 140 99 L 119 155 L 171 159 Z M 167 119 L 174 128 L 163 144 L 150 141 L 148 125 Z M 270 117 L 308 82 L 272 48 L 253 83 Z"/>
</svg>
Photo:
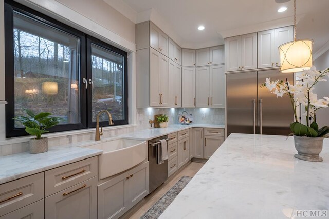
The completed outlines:
<svg viewBox="0 0 329 219">
<path fill-rule="evenodd" d="M 162 213 L 165 218 L 295 218 L 329 212 L 329 139 L 323 162 L 294 157 L 294 138 L 231 134 Z"/>
</svg>

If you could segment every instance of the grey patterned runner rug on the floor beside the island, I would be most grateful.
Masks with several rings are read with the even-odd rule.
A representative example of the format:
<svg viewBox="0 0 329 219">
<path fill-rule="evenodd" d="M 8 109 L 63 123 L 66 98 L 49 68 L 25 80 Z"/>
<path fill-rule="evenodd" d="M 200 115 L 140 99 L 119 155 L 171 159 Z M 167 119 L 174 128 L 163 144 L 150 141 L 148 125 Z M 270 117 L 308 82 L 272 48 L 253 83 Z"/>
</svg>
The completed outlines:
<svg viewBox="0 0 329 219">
<path fill-rule="evenodd" d="M 141 219 L 157 219 L 191 179 L 192 177 L 189 176 L 181 177 L 180 180 L 141 217 Z"/>
</svg>

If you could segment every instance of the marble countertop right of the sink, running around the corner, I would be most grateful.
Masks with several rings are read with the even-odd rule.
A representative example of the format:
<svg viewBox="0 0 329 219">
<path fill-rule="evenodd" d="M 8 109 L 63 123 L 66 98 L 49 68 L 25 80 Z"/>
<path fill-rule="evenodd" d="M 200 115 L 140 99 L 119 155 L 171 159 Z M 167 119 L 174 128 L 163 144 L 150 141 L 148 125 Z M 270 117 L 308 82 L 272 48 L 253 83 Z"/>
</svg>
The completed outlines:
<svg viewBox="0 0 329 219">
<path fill-rule="evenodd" d="M 191 124 L 191 125 L 181 125 L 181 124 L 173 124 L 169 125 L 167 128 L 152 128 L 152 129 L 145 129 L 141 131 L 126 133 L 120 135 L 126 138 L 132 138 L 136 140 L 151 140 L 153 138 L 157 138 L 163 135 L 171 134 L 174 132 L 186 130 L 189 128 L 221 128 L 224 129 L 225 125 L 209 125 L 209 124 Z"/>
</svg>

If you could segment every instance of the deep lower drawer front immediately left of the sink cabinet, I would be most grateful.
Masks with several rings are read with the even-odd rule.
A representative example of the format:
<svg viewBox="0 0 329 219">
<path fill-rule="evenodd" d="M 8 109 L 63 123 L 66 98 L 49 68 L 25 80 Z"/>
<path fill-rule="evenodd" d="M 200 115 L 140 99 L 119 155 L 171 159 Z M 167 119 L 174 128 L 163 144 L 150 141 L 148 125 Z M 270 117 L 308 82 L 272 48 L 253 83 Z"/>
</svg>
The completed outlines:
<svg viewBox="0 0 329 219">
<path fill-rule="evenodd" d="M 47 219 L 97 218 L 97 176 L 45 198 Z"/>
</svg>

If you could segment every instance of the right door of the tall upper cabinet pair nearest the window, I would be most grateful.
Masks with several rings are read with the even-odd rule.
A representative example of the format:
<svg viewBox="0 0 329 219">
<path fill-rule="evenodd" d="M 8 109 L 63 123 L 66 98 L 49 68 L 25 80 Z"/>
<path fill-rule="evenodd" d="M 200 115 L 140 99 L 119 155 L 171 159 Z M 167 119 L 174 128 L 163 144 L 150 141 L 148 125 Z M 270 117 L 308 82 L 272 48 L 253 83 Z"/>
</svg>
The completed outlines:
<svg viewBox="0 0 329 219">
<path fill-rule="evenodd" d="M 159 93 L 161 94 L 161 99 L 160 99 L 161 107 L 169 107 L 168 74 L 169 74 L 169 58 L 161 54 L 160 71 L 158 76 Z"/>
</svg>

